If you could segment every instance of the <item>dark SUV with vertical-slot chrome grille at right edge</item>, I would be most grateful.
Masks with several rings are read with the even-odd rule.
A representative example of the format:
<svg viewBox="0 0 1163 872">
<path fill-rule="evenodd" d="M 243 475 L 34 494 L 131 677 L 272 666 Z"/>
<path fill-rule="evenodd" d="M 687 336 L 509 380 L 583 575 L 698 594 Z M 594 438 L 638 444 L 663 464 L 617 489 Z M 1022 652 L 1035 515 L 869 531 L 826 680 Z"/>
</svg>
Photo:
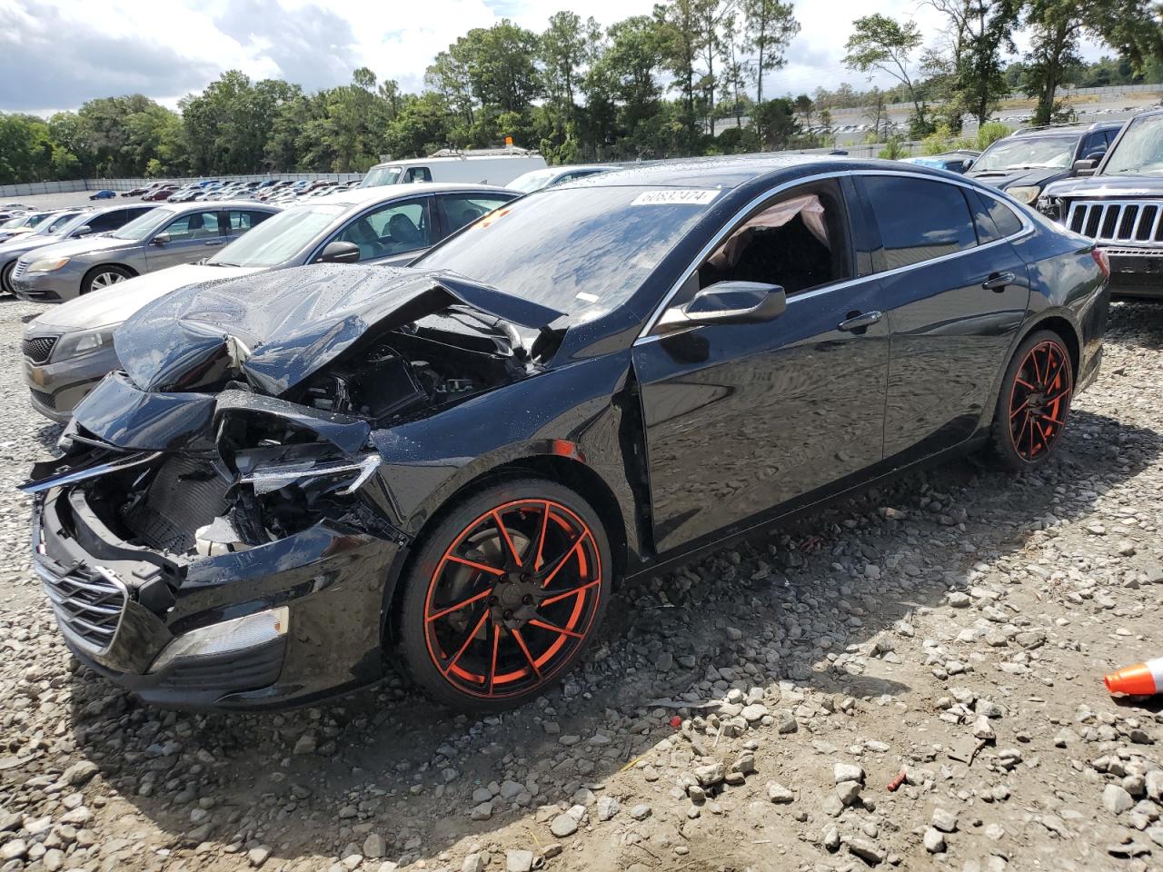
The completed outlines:
<svg viewBox="0 0 1163 872">
<path fill-rule="evenodd" d="M 1046 188 L 1037 208 L 1094 240 L 1111 260 L 1111 293 L 1163 300 L 1163 109 L 1136 115 L 1096 167 Z"/>
</svg>

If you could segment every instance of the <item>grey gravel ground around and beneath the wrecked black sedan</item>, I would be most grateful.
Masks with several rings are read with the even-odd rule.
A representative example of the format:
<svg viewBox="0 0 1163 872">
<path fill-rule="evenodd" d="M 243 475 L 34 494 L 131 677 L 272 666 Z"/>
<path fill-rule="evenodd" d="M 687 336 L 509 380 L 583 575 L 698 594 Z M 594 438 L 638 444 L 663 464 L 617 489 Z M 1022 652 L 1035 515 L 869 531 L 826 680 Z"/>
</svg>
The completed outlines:
<svg viewBox="0 0 1163 872">
<path fill-rule="evenodd" d="M 1163 655 L 1163 307 L 1114 308 L 1040 474 L 966 459 L 626 586 L 584 670 L 484 720 L 400 680 L 160 712 L 78 667 L 12 489 L 56 434 L 34 312 L 0 302 L 0 872 L 1163 867 L 1160 703 L 1101 682 Z"/>
</svg>

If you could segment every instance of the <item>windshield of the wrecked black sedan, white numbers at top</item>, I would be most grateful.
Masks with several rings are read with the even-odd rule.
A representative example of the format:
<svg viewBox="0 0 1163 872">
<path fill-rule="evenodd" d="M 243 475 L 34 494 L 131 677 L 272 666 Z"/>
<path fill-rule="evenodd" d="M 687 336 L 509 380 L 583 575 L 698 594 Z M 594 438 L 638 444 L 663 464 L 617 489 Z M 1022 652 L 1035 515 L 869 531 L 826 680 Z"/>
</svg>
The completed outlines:
<svg viewBox="0 0 1163 872">
<path fill-rule="evenodd" d="M 590 320 L 627 300 L 718 194 L 551 187 L 485 215 L 413 265 Z"/>
</svg>

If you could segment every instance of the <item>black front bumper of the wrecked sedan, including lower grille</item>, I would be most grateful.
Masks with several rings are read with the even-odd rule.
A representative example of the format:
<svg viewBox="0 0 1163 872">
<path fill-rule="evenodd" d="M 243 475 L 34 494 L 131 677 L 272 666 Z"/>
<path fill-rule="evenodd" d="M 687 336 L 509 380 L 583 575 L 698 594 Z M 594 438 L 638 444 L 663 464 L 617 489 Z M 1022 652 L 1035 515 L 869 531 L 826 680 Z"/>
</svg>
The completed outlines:
<svg viewBox="0 0 1163 872">
<path fill-rule="evenodd" d="M 284 708 L 381 674 L 385 580 L 399 545 L 326 522 L 245 551 L 181 559 L 119 538 L 79 488 L 38 494 L 34 567 L 77 658 L 151 705 Z M 291 632 L 158 657 L 192 630 L 286 608 Z"/>
</svg>

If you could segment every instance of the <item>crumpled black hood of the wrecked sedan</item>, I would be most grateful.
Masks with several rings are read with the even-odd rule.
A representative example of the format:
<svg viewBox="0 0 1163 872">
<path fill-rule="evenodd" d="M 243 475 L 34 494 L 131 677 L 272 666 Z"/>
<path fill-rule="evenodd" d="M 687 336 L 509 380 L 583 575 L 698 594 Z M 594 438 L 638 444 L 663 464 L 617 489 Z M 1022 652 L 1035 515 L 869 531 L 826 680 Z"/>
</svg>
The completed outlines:
<svg viewBox="0 0 1163 872">
<path fill-rule="evenodd" d="M 126 321 L 114 346 L 144 391 L 194 391 L 241 372 L 279 395 L 357 344 L 458 302 L 529 329 L 562 317 L 450 272 L 313 264 L 167 294 Z"/>
</svg>

